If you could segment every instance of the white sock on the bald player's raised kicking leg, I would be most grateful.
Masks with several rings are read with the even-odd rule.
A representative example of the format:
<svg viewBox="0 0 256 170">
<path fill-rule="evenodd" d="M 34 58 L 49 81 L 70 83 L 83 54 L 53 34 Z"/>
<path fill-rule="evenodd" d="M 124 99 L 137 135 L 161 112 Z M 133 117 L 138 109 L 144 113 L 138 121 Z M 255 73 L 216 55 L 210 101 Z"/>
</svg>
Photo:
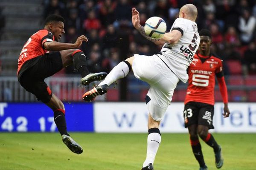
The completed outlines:
<svg viewBox="0 0 256 170">
<path fill-rule="evenodd" d="M 107 84 L 108 86 L 111 85 L 113 82 L 115 82 L 118 79 L 122 79 L 125 76 L 128 75 L 130 71 L 130 68 L 125 62 L 119 62 L 118 65 L 116 65 L 108 74 L 108 76 L 99 83 L 99 85 L 105 85 Z"/>
</svg>

